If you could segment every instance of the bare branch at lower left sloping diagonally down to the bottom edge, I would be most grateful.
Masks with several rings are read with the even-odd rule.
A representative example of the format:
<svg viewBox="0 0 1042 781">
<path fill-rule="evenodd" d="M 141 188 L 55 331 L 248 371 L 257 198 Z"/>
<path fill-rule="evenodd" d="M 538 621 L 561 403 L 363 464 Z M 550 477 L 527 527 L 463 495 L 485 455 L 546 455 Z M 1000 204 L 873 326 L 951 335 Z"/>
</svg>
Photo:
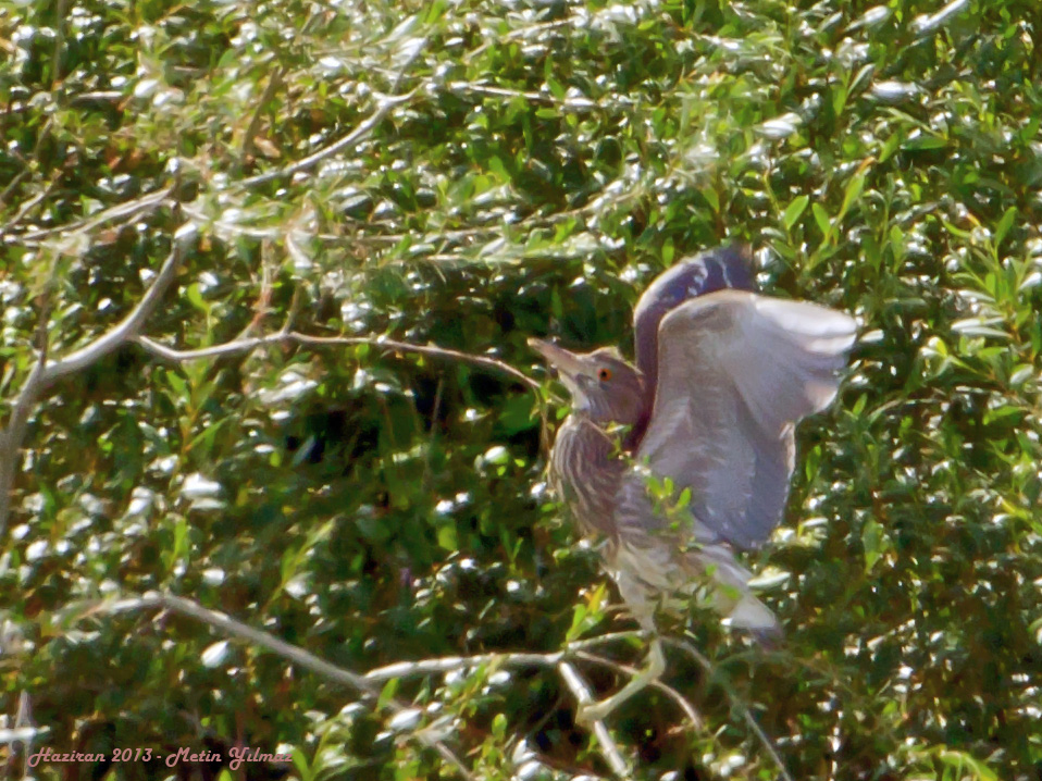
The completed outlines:
<svg viewBox="0 0 1042 781">
<path fill-rule="evenodd" d="M 277 656 L 288 659 L 293 664 L 308 669 L 322 678 L 353 689 L 358 694 L 365 698 L 373 698 L 377 699 L 379 702 L 380 687 L 373 684 L 372 681 L 367 680 L 364 677 L 351 672 L 350 670 L 346 670 L 343 667 L 331 665 L 328 661 L 319 658 L 314 654 L 308 653 L 303 648 L 300 648 L 296 645 L 290 645 L 286 641 L 280 640 L 268 632 L 253 629 L 252 627 L 245 624 L 241 621 L 237 621 L 223 612 L 204 608 L 191 599 L 186 599 L 173 594 L 149 592 L 140 597 L 121 599 L 117 602 L 99 605 L 97 611 L 114 613 L 147 610 L 150 608 L 163 608 L 182 616 L 194 618 L 197 621 L 213 627 L 214 629 L 225 632 L 234 637 L 238 637 L 266 648 Z M 411 706 L 402 705 L 393 698 L 386 701 L 385 707 L 394 714 L 413 709 Z M 426 730 L 410 732 L 409 737 L 427 748 L 433 748 L 436 751 L 443 759 L 452 765 L 459 771 L 460 776 L 468 781 L 476 781 L 474 776 L 471 774 L 471 772 L 467 769 L 467 766 L 463 765 L 459 757 L 457 757 L 456 754 L 447 745 L 445 745 L 445 743 L 437 740 L 437 737 L 434 737 Z"/>
</svg>

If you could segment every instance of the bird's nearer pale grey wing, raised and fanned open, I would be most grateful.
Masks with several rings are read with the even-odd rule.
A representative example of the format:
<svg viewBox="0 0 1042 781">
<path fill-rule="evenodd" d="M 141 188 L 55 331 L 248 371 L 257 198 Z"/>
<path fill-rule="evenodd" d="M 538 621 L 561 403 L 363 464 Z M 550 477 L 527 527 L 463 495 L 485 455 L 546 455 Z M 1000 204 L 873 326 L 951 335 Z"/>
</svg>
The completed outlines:
<svg viewBox="0 0 1042 781">
<path fill-rule="evenodd" d="M 753 547 L 778 525 L 793 427 L 835 397 L 855 334 L 842 312 L 742 290 L 695 298 L 662 319 L 655 406 L 636 460 L 678 491 L 691 488 L 703 542 Z M 631 470 L 620 496 L 625 522 L 650 522 L 646 505 L 634 512 L 647 491 L 641 469 Z"/>
</svg>

